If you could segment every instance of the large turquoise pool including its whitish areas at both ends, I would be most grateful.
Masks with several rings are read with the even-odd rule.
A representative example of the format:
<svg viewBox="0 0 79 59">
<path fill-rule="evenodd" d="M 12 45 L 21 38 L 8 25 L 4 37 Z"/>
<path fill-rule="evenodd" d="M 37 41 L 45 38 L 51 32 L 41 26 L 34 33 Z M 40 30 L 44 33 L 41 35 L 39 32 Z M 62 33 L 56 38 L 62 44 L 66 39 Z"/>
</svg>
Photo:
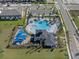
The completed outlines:
<svg viewBox="0 0 79 59">
<path fill-rule="evenodd" d="M 26 30 L 35 34 L 36 30 L 46 30 L 48 32 L 56 33 L 58 30 L 57 24 L 50 24 L 47 20 L 33 20 L 27 26 Z"/>
</svg>

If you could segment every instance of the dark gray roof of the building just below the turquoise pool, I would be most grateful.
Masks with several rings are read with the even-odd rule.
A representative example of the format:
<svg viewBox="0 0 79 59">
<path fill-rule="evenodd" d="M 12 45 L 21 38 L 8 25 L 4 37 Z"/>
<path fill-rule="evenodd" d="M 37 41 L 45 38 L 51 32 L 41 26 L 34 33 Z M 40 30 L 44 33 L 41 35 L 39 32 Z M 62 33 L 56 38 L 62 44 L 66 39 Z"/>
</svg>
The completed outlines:
<svg viewBox="0 0 79 59">
<path fill-rule="evenodd" d="M 41 30 L 43 33 L 39 37 L 35 37 L 35 40 L 45 39 L 45 46 L 56 46 L 57 41 L 53 33 L 48 33 L 45 30 Z M 40 31 L 39 31 L 40 32 Z"/>
</svg>

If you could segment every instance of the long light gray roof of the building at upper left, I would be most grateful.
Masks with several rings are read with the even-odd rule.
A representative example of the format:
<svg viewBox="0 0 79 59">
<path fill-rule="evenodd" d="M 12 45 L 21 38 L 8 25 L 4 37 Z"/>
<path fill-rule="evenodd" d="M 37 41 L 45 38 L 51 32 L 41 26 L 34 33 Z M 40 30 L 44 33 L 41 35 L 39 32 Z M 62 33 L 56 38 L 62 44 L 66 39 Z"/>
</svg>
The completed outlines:
<svg viewBox="0 0 79 59">
<path fill-rule="evenodd" d="M 0 16 L 14 16 L 14 15 L 21 15 L 19 11 L 15 9 L 7 9 L 7 10 L 2 10 L 0 13 Z"/>
</svg>

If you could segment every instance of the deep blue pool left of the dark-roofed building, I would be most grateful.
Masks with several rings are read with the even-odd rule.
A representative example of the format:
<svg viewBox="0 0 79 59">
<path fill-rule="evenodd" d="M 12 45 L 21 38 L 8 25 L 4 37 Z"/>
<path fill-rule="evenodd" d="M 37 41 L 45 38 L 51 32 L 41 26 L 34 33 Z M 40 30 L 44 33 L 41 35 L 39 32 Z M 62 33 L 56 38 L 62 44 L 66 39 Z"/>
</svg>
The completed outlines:
<svg viewBox="0 0 79 59">
<path fill-rule="evenodd" d="M 17 35 L 16 35 L 15 38 L 14 38 L 15 44 L 16 44 L 16 43 L 21 44 L 24 40 L 26 40 L 27 35 L 28 35 L 28 34 L 27 34 L 26 32 L 24 32 L 23 28 L 20 27 L 20 28 L 18 29 Z"/>
</svg>

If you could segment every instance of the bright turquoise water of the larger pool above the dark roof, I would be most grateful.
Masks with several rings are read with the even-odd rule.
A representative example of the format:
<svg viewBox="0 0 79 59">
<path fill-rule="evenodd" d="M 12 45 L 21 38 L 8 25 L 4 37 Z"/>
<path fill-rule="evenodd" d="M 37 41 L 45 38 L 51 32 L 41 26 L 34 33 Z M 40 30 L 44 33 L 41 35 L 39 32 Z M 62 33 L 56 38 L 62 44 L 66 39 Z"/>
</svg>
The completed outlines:
<svg viewBox="0 0 79 59">
<path fill-rule="evenodd" d="M 50 29 L 50 25 L 48 21 L 38 20 L 38 21 L 33 21 L 33 23 L 31 24 L 35 25 L 31 28 L 32 33 L 34 33 L 36 30 L 49 30 Z"/>
</svg>

